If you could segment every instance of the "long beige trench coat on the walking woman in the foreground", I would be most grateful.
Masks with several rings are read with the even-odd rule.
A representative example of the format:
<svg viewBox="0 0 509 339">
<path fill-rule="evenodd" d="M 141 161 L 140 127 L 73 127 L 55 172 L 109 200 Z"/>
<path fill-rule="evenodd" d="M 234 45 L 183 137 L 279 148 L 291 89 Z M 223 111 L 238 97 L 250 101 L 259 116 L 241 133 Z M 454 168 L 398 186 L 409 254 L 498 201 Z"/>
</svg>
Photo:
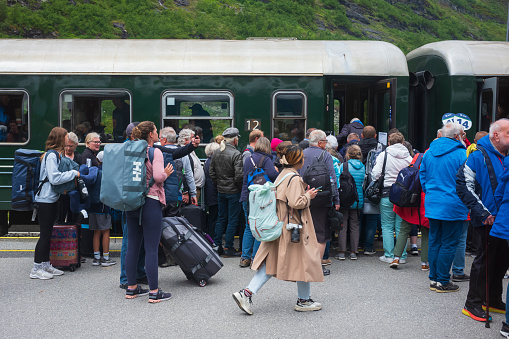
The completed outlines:
<svg viewBox="0 0 509 339">
<path fill-rule="evenodd" d="M 288 181 L 292 176 L 288 176 L 277 188 L 277 216 L 279 220 L 284 221 L 281 237 L 261 243 L 251 268 L 258 270 L 265 261 L 266 273 L 280 280 L 323 282 L 320 251 L 309 212 L 311 198 L 309 193 L 306 193 L 307 185 L 293 168 L 285 168 L 275 182 L 278 183 L 287 173 L 295 173 L 297 176 L 292 179 L 289 186 Z M 286 229 L 287 198 L 290 206 L 290 223 L 302 225 L 298 243 L 291 242 L 291 232 Z M 297 209 L 302 210 L 302 222 Z"/>
</svg>

